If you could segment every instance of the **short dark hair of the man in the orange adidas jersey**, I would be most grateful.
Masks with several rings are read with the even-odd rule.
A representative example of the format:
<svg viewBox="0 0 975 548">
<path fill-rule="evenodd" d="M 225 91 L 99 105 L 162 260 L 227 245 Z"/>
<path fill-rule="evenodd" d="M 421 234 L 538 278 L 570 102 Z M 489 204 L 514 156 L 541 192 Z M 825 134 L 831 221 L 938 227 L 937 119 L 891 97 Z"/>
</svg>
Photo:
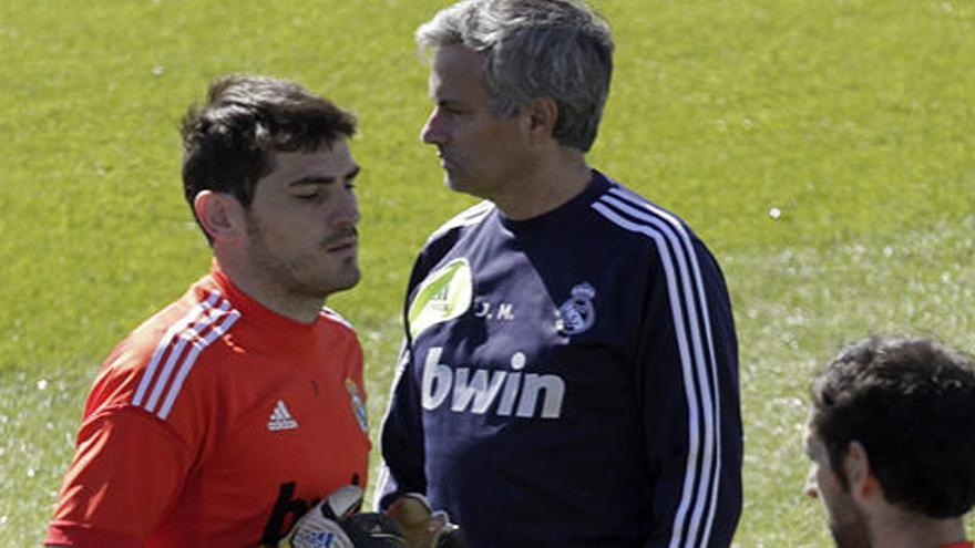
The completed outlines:
<svg viewBox="0 0 975 548">
<path fill-rule="evenodd" d="M 214 190 L 249 207 L 257 182 L 274 169 L 275 151 L 312 152 L 355 133 L 352 114 L 294 82 L 243 74 L 217 77 L 206 104 L 191 106 L 183 118 L 186 201 L 193 209 L 197 194 Z"/>
</svg>

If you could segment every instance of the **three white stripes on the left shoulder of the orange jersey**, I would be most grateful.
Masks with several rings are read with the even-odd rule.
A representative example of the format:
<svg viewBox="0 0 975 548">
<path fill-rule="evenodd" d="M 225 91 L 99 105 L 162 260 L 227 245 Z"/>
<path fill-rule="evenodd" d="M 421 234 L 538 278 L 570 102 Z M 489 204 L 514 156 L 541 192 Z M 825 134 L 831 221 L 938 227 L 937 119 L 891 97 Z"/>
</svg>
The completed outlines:
<svg viewBox="0 0 975 548">
<path fill-rule="evenodd" d="M 240 312 L 230 306 L 230 301 L 218 291 L 211 291 L 205 300 L 177 320 L 156 344 L 132 404 L 165 420 L 201 352 L 226 333 L 239 318 Z"/>
</svg>

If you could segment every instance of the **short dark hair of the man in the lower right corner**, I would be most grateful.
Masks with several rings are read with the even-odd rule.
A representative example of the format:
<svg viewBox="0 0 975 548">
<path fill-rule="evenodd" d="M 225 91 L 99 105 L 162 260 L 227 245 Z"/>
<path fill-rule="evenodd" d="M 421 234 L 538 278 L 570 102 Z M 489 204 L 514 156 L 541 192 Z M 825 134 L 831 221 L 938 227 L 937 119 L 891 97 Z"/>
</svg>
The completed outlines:
<svg viewBox="0 0 975 548">
<path fill-rule="evenodd" d="M 975 504 L 975 368 L 927 339 L 871 337 L 813 381 L 810 425 L 849 489 L 843 457 L 866 451 L 890 504 L 932 518 Z"/>
</svg>

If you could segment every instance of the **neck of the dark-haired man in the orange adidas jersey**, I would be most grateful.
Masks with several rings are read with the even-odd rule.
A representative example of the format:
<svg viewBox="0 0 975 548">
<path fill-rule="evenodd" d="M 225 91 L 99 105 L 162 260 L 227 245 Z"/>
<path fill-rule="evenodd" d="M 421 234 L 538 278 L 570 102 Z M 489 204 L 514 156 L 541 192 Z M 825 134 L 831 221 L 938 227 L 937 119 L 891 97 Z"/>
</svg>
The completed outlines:
<svg viewBox="0 0 975 548">
<path fill-rule="evenodd" d="M 321 311 L 325 298 L 312 294 L 296 294 L 275 283 L 268 276 L 260 276 L 256 269 L 246 268 L 232 257 L 217 254 L 220 270 L 244 294 L 264 307 L 300 323 L 311 323 Z"/>
</svg>

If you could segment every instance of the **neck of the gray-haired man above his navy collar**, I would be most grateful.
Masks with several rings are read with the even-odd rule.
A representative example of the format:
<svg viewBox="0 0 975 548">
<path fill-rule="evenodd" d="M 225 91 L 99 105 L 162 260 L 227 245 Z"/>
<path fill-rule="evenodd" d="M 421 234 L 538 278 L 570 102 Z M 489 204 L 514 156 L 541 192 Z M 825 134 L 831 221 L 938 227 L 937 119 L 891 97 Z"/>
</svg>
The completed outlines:
<svg viewBox="0 0 975 548">
<path fill-rule="evenodd" d="M 520 180 L 509 185 L 507 194 L 492 196 L 491 200 L 510 219 L 530 219 L 578 196 L 591 178 L 589 166 L 581 152 L 558 147 Z"/>
</svg>

